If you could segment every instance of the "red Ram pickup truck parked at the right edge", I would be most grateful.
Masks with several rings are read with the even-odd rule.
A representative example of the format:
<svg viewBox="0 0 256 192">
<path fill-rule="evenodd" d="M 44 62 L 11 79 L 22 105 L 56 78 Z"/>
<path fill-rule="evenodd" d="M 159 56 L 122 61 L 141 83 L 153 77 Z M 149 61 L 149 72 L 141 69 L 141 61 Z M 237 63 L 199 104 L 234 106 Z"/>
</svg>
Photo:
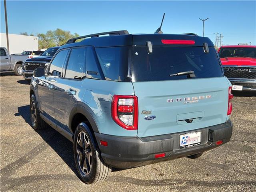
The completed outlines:
<svg viewBox="0 0 256 192">
<path fill-rule="evenodd" d="M 256 46 L 222 46 L 218 53 L 232 90 L 256 91 Z"/>
</svg>

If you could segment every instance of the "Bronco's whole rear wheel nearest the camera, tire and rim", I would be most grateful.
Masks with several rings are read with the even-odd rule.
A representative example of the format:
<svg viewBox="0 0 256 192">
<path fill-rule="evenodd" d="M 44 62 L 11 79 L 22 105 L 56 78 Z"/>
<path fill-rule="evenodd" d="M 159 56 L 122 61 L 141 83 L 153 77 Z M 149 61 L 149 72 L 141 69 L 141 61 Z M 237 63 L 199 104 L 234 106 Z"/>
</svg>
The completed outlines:
<svg viewBox="0 0 256 192">
<path fill-rule="evenodd" d="M 86 123 L 76 127 L 74 134 L 74 160 L 82 182 L 94 184 L 106 180 L 111 172 L 100 156 L 96 141 Z"/>
</svg>

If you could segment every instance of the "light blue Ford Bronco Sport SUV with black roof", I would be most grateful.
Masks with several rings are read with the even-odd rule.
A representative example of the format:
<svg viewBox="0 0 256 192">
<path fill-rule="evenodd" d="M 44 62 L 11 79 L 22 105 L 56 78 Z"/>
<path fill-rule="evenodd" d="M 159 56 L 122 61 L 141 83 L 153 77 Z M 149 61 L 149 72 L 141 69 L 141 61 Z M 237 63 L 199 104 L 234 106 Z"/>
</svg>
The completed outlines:
<svg viewBox="0 0 256 192">
<path fill-rule="evenodd" d="M 231 88 L 209 38 L 105 32 L 68 40 L 34 70 L 30 118 L 74 143 L 92 184 L 111 167 L 199 158 L 228 142 Z"/>
</svg>

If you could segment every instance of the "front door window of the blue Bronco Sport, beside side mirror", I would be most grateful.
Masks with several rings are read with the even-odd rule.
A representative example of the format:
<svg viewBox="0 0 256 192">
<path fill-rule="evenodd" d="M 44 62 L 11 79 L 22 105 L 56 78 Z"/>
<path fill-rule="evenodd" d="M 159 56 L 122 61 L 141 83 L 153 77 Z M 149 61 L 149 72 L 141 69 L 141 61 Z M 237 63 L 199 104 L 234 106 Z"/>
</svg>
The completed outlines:
<svg viewBox="0 0 256 192">
<path fill-rule="evenodd" d="M 50 65 L 49 75 L 60 77 L 67 54 L 68 50 L 63 50 L 57 53 Z"/>
</svg>

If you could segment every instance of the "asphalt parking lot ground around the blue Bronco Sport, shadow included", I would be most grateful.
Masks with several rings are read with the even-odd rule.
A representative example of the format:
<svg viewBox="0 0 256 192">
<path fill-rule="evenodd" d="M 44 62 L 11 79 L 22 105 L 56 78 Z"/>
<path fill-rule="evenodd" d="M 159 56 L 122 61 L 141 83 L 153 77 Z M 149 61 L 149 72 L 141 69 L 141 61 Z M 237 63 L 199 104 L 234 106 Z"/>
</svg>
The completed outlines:
<svg viewBox="0 0 256 192">
<path fill-rule="evenodd" d="M 115 171 L 86 185 L 72 143 L 52 128 L 31 128 L 28 83 L 1 74 L 0 84 L 1 191 L 256 191 L 256 94 L 234 94 L 232 138 L 209 156 Z"/>
</svg>

